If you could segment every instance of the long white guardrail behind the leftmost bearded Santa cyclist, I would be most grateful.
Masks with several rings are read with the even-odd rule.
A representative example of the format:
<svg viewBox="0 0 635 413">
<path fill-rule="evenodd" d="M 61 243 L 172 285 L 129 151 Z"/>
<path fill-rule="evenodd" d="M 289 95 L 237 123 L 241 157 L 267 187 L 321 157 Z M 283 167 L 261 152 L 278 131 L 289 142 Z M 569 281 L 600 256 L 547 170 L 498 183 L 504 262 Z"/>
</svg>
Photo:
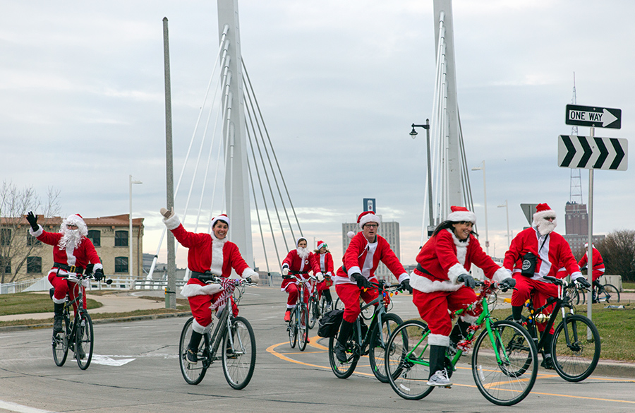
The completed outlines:
<svg viewBox="0 0 635 413">
<path fill-rule="evenodd" d="M 167 287 L 167 280 L 138 280 L 129 276 L 122 277 L 108 277 L 112 280 L 111 285 L 107 285 L 105 282 L 90 282 L 89 290 L 117 290 L 117 289 L 165 289 Z M 185 282 L 183 280 L 176 280 L 176 287 L 181 288 Z M 42 277 L 35 280 L 24 280 L 18 282 L 7 282 L 6 284 L 0 284 L 0 294 L 14 294 L 16 292 L 36 292 L 36 291 L 49 291 L 52 287 L 48 278 Z"/>
</svg>

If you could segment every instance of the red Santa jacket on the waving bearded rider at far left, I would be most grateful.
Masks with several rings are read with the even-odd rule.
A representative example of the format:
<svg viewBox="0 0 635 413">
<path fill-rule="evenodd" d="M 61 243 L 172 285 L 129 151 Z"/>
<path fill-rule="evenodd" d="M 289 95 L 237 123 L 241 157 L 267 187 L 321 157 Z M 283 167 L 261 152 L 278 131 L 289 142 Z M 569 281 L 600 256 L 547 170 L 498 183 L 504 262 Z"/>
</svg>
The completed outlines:
<svg viewBox="0 0 635 413">
<path fill-rule="evenodd" d="M 46 232 L 40 225 L 40 229 L 35 232 L 30 229 L 30 234 L 42 241 L 44 244 L 53 246 L 53 261 L 55 263 L 75 265 L 76 267 L 81 268 L 86 268 L 86 265 L 90 263 L 95 264 L 95 270 L 97 270 L 97 268 L 104 268 L 102 266 L 102 262 L 99 261 L 99 256 L 97 255 L 97 251 L 95 251 L 95 246 L 92 245 L 92 241 L 86 237 L 82 237 L 82 241 L 79 246 L 71 251 L 60 248 L 59 240 L 61 239 L 62 234 L 59 232 Z M 55 266 L 49 271 L 49 274 L 54 272 L 57 272 L 57 268 Z M 65 270 L 59 270 L 59 273 L 68 274 Z"/>
</svg>

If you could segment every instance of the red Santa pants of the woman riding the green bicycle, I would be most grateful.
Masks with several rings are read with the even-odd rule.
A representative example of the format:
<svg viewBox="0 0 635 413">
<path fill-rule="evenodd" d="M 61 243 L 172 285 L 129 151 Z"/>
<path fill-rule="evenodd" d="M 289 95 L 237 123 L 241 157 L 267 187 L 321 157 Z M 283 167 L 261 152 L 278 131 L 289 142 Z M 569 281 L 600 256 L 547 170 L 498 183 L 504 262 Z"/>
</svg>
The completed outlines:
<svg viewBox="0 0 635 413">
<path fill-rule="evenodd" d="M 465 309 L 476 301 L 476 293 L 468 287 L 456 291 L 421 292 L 413 289 L 412 302 L 419 311 L 419 316 L 428 323 L 430 333 L 449 337 L 452 332 L 452 318 L 449 311 Z M 466 311 L 464 315 L 478 316 L 476 311 Z"/>
</svg>

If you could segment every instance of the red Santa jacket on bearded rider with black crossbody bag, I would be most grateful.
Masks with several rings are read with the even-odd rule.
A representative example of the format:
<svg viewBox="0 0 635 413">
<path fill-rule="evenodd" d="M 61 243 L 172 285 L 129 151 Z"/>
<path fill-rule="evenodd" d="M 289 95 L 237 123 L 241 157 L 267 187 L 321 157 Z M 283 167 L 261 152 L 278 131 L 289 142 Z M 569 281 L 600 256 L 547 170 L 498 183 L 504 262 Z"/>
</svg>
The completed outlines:
<svg viewBox="0 0 635 413">
<path fill-rule="evenodd" d="M 571 274 L 572 280 L 583 276 L 569 244 L 556 232 L 541 236 L 534 227 L 519 232 L 512 239 L 509 251 L 505 253 L 504 268 L 514 275 L 521 273 L 522 257 L 528 252 L 536 256 L 536 270 L 531 277 L 533 280 L 540 280 L 545 275 L 557 277 L 558 271 L 562 268 Z"/>
</svg>

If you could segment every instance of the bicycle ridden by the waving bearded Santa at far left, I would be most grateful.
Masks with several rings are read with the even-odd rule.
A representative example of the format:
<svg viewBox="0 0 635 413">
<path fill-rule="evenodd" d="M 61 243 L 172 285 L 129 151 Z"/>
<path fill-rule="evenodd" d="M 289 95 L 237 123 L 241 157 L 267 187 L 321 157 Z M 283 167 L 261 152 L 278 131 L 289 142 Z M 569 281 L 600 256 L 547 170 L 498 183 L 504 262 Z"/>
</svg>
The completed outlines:
<svg viewBox="0 0 635 413">
<path fill-rule="evenodd" d="M 95 279 L 92 268 L 94 265 L 87 265 L 86 270 L 71 266 L 71 273 L 68 275 L 60 275 L 59 268 L 56 273 L 56 277 L 66 279 L 69 283 L 69 288 L 73 289 L 75 299 L 69 300 L 68 294 L 66 295 L 66 301 L 64 302 L 63 309 L 63 325 L 62 330 L 58 333 L 53 333 L 52 347 L 53 347 L 53 360 L 57 366 L 63 366 L 66 363 L 66 357 L 68 357 L 68 349 L 74 354 L 74 358 L 77 361 L 77 365 L 80 369 L 85 370 L 90 366 L 92 360 L 92 349 L 95 344 L 95 337 L 93 335 L 92 320 L 90 314 L 84 308 L 85 294 L 82 287 L 83 280 Z M 75 272 L 81 270 L 81 273 Z M 106 283 L 110 285 L 112 280 L 107 280 Z M 72 283 L 72 285 L 71 285 Z M 49 289 L 49 296 L 53 298 L 55 289 Z M 73 320 L 71 320 L 71 311 L 73 311 Z"/>
</svg>

